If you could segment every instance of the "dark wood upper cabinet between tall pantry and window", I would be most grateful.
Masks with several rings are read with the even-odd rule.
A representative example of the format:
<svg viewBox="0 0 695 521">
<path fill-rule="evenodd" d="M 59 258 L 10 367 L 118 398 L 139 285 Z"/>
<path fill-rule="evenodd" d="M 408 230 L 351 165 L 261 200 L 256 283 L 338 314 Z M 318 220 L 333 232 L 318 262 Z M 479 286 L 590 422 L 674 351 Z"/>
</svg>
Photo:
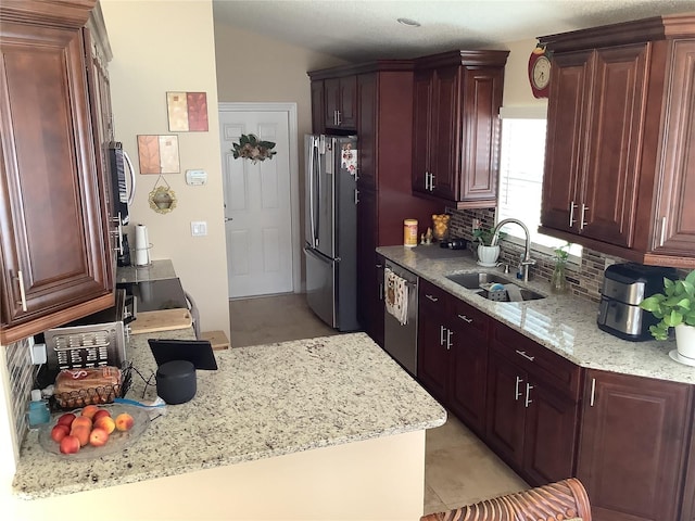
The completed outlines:
<svg viewBox="0 0 695 521">
<path fill-rule="evenodd" d="M 451 51 L 415 61 L 415 193 L 459 208 L 496 204 L 507 54 Z"/>
</svg>

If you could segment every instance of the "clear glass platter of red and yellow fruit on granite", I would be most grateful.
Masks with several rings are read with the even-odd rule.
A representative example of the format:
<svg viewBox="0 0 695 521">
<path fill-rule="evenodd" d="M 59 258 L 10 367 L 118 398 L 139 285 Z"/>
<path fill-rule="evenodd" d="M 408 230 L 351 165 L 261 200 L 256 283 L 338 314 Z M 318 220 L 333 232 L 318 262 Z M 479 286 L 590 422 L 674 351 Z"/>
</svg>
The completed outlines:
<svg viewBox="0 0 695 521">
<path fill-rule="evenodd" d="M 149 423 L 148 412 L 138 407 L 87 405 L 52 417 L 39 430 L 39 445 L 63 458 L 98 458 L 128 447 Z"/>
</svg>

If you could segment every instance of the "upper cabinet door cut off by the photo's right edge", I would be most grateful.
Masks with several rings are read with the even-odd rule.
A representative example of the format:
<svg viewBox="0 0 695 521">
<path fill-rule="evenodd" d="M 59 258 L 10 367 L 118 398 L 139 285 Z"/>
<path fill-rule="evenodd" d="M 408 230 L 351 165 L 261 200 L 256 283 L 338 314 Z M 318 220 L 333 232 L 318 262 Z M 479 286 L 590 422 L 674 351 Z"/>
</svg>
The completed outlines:
<svg viewBox="0 0 695 521">
<path fill-rule="evenodd" d="M 655 253 L 693 256 L 695 252 L 695 41 L 672 48 L 671 107 L 666 123 L 664 185 L 657 201 Z"/>
</svg>

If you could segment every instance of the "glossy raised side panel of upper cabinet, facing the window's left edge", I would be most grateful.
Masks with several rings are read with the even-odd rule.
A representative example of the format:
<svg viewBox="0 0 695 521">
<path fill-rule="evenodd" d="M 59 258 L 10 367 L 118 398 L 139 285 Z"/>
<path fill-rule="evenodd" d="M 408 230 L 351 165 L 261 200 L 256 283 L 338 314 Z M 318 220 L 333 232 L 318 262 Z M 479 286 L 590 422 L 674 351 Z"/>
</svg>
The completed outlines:
<svg viewBox="0 0 695 521">
<path fill-rule="evenodd" d="M 464 119 L 458 124 L 462 136 L 459 175 L 454 177 L 458 201 L 490 200 L 497 196 L 500 175 L 500 106 L 504 82 L 501 67 L 470 67 L 463 75 Z"/>
</svg>

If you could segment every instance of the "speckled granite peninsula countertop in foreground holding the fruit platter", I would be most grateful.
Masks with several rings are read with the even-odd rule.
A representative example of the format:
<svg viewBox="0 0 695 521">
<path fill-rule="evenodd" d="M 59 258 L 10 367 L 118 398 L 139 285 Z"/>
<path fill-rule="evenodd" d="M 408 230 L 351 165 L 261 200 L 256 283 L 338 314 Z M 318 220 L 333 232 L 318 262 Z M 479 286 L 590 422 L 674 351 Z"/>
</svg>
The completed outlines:
<svg viewBox="0 0 695 521">
<path fill-rule="evenodd" d="M 155 369 L 147 339 L 128 357 L 144 378 Z M 192 329 L 161 338 L 193 338 Z M 313 448 L 442 425 L 446 411 L 369 336 L 340 334 L 215 352 L 217 371 L 198 371 L 198 392 L 166 406 L 125 450 L 66 460 L 25 439 L 15 494 L 39 498 L 136 483 Z M 134 376 L 128 397 L 155 389 Z M 167 465 L 162 465 L 166 461 Z"/>
</svg>

